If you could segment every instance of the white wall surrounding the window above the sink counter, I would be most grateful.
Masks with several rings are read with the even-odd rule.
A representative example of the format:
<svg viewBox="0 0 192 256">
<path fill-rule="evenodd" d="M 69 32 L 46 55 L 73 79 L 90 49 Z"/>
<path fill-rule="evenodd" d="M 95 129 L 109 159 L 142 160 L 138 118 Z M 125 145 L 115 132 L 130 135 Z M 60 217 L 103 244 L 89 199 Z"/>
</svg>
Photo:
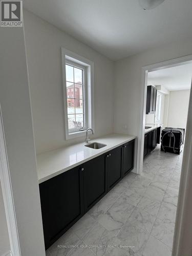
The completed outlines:
<svg viewBox="0 0 192 256">
<path fill-rule="evenodd" d="M 112 133 L 114 62 L 28 11 L 24 22 L 37 153 L 85 139 L 65 140 L 61 47 L 94 62 L 94 137 Z"/>
</svg>

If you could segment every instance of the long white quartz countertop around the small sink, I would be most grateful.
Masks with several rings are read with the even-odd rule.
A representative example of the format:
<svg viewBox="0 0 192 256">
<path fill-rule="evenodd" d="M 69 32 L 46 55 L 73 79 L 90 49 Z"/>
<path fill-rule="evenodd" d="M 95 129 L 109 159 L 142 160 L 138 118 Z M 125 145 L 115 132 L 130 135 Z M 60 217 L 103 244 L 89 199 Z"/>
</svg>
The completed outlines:
<svg viewBox="0 0 192 256">
<path fill-rule="evenodd" d="M 99 148 L 98 150 L 86 147 L 84 146 L 86 143 L 81 142 L 75 145 L 59 148 L 58 150 L 39 154 L 37 155 L 38 182 L 41 183 L 49 180 L 135 138 L 136 136 L 131 135 L 110 134 L 90 141 L 90 143 L 99 142 L 106 144 L 106 146 Z"/>
</svg>

